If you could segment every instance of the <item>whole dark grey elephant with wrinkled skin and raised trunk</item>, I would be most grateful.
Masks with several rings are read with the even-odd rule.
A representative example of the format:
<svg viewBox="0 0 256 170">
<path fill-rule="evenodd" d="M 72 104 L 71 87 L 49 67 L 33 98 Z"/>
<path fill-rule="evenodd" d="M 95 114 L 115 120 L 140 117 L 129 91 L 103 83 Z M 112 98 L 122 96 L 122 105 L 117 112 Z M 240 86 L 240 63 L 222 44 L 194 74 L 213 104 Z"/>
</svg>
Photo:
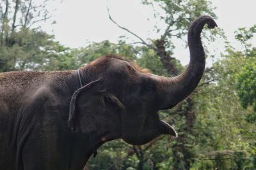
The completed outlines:
<svg viewBox="0 0 256 170">
<path fill-rule="evenodd" d="M 198 85 L 205 67 L 200 32 L 188 32 L 191 60 L 174 78 L 141 71 L 118 57 L 102 57 L 77 71 L 0 74 L 0 169 L 83 169 L 106 141 L 143 145 L 161 134 L 177 136 L 159 119 Z M 90 138 L 91 135 L 91 138 Z"/>
</svg>

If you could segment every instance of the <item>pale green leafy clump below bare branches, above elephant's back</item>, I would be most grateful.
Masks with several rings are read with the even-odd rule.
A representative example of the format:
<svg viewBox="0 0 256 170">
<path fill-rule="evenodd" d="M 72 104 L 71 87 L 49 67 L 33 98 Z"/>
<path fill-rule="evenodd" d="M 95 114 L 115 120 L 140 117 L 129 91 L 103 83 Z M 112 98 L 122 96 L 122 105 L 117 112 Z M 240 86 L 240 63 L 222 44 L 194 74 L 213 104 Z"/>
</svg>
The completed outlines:
<svg viewBox="0 0 256 170">
<path fill-rule="evenodd" d="M 56 64 L 58 55 L 68 48 L 53 39 L 54 36 L 43 31 L 22 28 L 14 32 L 12 45 L 0 46 L 0 59 L 4 63 L 0 71 L 61 69 Z"/>
</svg>

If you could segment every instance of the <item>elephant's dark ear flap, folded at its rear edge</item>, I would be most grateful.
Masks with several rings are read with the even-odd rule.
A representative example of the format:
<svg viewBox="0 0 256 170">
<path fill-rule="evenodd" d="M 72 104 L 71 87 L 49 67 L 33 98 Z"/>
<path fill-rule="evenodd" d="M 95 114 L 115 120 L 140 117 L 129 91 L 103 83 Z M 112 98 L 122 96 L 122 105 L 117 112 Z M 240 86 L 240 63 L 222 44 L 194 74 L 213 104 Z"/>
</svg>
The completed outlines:
<svg viewBox="0 0 256 170">
<path fill-rule="evenodd" d="M 68 125 L 72 132 L 100 131 L 108 125 L 108 113 L 124 108 L 122 103 L 102 89 L 102 80 L 92 81 L 74 92 L 70 101 Z"/>
</svg>

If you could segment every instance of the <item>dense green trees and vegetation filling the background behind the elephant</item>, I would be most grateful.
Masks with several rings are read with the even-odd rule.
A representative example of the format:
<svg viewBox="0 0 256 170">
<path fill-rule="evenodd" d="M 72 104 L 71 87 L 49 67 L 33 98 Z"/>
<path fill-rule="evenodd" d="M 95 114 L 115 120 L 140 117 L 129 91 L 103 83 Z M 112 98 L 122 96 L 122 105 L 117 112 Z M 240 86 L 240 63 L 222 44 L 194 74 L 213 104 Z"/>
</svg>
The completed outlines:
<svg viewBox="0 0 256 170">
<path fill-rule="evenodd" d="M 106 54 L 117 54 L 137 62 L 152 73 L 175 76 L 184 70 L 173 58 L 173 38 L 184 39 L 189 23 L 201 13 L 213 13 L 206 0 L 143 0 L 160 6 L 166 23 L 158 39 L 141 39 L 140 45 L 108 40 L 71 49 L 54 41 L 54 36 L 33 27 L 47 20 L 49 11 L 31 0 L 1 2 L 0 71 L 51 71 L 77 69 Z M 109 20 L 109 22 L 111 22 Z M 205 27 L 205 30 L 206 27 Z M 209 33 L 204 31 L 204 34 Z M 196 91 L 160 116 L 175 126 L 179 138 L 159 139 L 144 146 L 111 141 L 99 148 L 90 169 L 255 169 L 256 168 L 256 47 L 250 43 L 256 25 L 239 28 L 236 39 L 242 51 L 227 42 L 218 60 L 207 67 Z M 225 38 L 220 29 L 211 32 L 204 44 Z M 150 40 L 149 40 L 150 39 Z M 208 55 L 212 55 L 208 53 Z"/>
</svg>

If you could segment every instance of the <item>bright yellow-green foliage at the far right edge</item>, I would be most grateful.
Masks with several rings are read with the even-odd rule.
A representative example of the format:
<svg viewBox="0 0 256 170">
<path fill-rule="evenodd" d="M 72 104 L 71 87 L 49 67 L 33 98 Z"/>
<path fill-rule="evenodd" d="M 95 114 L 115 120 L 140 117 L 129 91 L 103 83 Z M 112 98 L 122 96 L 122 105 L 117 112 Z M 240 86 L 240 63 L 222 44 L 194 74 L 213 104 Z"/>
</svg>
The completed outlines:
<svg viewBox="0 0 256 170">
<path fill-rule="evenodd" d="M 246 115 L 246 121 L 256 122 L 256 48 L 252 47 L 250 39 L 256 33 L 256 25 L 250 29 L 240 28 L 236 32 L 236 39 L 244 45 L 244 62 L 240 71 L 236 74 L 237 96 L 243 108 L 253 107 L 253 111 Z"/>
</svg>

